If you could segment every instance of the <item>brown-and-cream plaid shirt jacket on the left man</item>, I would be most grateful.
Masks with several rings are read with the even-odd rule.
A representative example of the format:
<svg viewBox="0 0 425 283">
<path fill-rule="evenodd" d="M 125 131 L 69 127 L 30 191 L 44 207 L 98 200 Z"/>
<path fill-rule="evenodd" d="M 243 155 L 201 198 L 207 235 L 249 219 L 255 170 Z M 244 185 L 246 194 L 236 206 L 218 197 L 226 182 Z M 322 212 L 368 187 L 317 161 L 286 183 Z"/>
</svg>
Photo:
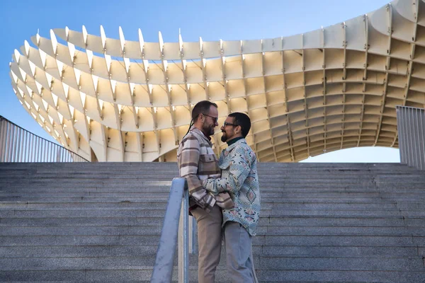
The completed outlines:
<svg viewBox="0 0 425 283">
<path fill-rule="evenodd" d="M 200 129 L 192 127 L 181 141 L 177 151 L 180 177 L 186 178 L 188 182 L 191 209 L 198 206 L 207 212 L 210 212 L 214 204 L 222 208 L 233 207 L 233 202 L 227 192 L 212 195 L 202 186 L 203 180 L 219 178 L 221 175 L 217 156 L 211 146 L 212 143 L 205 137 L 205 134 Z"/>
</svg>

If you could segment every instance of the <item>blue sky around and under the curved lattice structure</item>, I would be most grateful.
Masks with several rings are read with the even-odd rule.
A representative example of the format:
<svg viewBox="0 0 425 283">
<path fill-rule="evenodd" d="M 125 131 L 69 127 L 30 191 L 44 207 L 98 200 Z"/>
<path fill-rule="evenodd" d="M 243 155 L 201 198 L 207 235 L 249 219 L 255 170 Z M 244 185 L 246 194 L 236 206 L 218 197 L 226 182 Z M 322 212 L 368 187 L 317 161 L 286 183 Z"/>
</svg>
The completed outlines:
<svg viewBox="0 0 425 283">
<path fill-rule="evenodd" d="M 288 36 L 316 30 L 374 11 L 388 0 L 227 0 L 227 1 L 8 1 L 0 0 L 0 115 L 41 137 L 54 141 L 23 110 L 13 93 L 8 63 L 13 50 L 40 30 L 49 37 L 51 28 L 81 30 L 126 40 L 137 40 L 140 28 L 145 41 L 176 42 L 179 28 L 184 41 L 249 40 Z M 307 162 L 399 162 L 397 149 L 357 148 L 310 158 Z"/>
</svg>

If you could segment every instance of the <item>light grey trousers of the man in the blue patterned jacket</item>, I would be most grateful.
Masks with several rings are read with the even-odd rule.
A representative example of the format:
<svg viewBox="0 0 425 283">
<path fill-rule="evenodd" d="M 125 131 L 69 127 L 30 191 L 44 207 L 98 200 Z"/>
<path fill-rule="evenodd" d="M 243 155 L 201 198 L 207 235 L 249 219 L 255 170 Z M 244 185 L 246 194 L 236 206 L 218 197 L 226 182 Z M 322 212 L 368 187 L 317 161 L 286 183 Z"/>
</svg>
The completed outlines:
<svg viewBox="0 0 425 283">
<path fill-rule="evenodd" d="M 227 271 L 232 283 L 258 282 L 254 270 L 251 235 L 241 224 L 227 221 L 224 228 Z"/>
</svg>

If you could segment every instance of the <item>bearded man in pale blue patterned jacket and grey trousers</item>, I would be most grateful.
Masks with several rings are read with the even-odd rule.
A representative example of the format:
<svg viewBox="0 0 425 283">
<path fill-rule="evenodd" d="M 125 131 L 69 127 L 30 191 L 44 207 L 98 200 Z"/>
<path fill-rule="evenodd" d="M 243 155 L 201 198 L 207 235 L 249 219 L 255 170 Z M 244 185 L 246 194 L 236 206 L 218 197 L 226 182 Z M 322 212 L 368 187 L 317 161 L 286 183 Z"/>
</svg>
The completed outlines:
<svg viewBox="0 0 425 283">
<path fill-rule="evenodd" d="M 230 114 L 221 127 L 227 149 L 220 155 L 220 178 L 203 180 L 214 195 L 229 192 L 234 207 L 222 209 L 226 262 L 233 283 L 258 282 L 254 270 L 251 241 L 260 213 L 259 179 L 256 156 L 246 143 L 251 120 L 244 113 Z"/>
</svg>

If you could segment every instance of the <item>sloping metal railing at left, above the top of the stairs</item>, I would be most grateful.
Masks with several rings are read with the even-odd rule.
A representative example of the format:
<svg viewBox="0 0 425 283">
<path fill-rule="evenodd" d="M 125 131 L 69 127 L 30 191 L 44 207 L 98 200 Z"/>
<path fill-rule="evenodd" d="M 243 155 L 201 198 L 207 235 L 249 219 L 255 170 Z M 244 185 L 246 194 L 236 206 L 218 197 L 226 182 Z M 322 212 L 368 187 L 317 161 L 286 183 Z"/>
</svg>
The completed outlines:
<svg viewBox="0 0 425 283">
<path fill-rule="evenodd" d="M 0 162 L 89 162 L 0 116 Z"/>
</svg>

